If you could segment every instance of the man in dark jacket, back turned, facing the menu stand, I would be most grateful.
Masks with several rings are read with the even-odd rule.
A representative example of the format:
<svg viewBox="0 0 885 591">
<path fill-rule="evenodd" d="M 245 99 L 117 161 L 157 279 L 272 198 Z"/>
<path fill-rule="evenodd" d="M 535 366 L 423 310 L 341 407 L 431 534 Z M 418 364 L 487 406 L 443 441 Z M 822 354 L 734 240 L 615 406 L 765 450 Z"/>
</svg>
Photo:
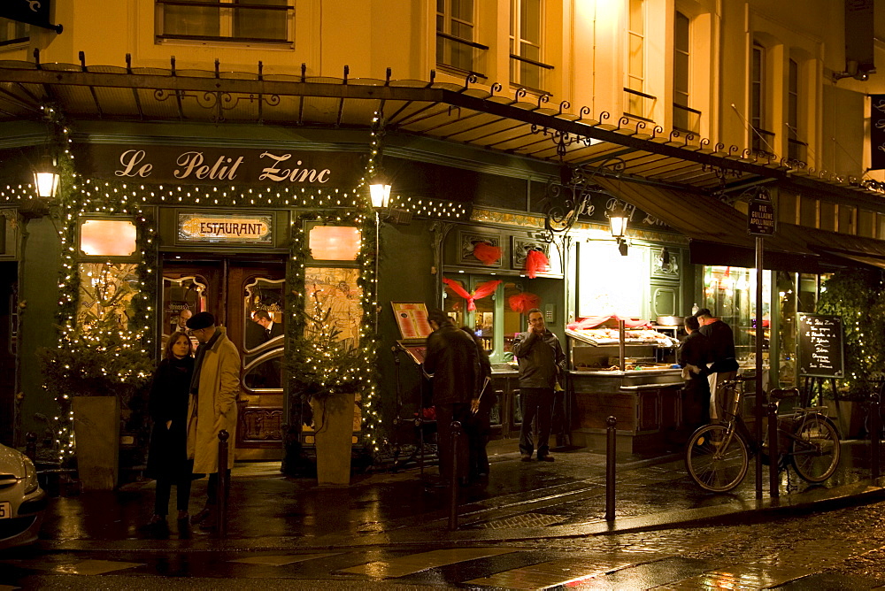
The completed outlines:
<svg viewBox="0 0 885 591">
<path fill-rule="evenodd" d="M 440 475 L 451 478 L 454 450 L 451 449 L 451 422 L 462 426 L 470 418 L 470 401 L 476 395 L 476 343 L 470 335 L 455 326 L 442 310 L 427 315 L 433 334 L 427 339 L 424 372 L 433 377 L 436 434 L 440 450 Z M 470 464 L 467 437 L 458 443 L 458 479 L 467 481 Z"/>
</svg>

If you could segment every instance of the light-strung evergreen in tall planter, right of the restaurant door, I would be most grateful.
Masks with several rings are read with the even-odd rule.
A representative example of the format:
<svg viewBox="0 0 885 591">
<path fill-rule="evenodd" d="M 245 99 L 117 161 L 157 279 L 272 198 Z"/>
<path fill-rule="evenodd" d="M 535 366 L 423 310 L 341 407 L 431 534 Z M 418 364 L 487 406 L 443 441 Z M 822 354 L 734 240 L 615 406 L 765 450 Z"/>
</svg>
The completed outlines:
<svg viewBox="0 0 885 591">
<path fill-rule="evenodd" d="M 314 296 L 304 312 L 304 332 L 296 337 L 289 371 L 311 403 L 319 484 L 349 484 L 356 395 L 363 383 L 362 351 L 342 339 L 331 306 Z"/>
</svg>

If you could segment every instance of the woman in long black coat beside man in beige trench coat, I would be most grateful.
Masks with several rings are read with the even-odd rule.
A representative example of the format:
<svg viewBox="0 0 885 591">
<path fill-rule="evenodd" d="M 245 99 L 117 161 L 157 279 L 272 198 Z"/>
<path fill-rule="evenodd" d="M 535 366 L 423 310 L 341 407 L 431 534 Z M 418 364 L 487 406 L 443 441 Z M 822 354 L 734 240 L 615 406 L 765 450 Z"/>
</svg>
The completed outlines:
<svg viewBox="0 0 885 591">
<path fill-rule="evenodd" d="M 186 521 L 190 501 L 191 467 L 188 460 L 188 404 L 194 357 L 187 334 L 173 333 L 166 342 L 163 360 L 154 373 L 150 389 L 150 433 L 146 475 L 157 479 L 157 497 L 150 525 L 165 524 L 169 495 L 174 484 L 178 495 L 178 519 Z"/>
</svg>

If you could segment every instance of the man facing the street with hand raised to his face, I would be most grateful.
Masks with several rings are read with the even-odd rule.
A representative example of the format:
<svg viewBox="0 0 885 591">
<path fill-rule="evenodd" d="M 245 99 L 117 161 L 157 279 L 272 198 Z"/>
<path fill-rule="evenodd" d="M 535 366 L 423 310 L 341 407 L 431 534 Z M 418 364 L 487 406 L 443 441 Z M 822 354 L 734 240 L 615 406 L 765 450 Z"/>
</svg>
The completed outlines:
<svg viewBox="0 0 885 591">
<path fill-rule="evenodd" d="M 566 355 L 556 334 L 547 330 L 543 312 L 537 308 L 528 311 L 527 332 L 519 333 L 513 340 L 513 355 L 519 358 L 519 410 L 522 411 L 519 451 L 522 461 L 532 460 L 535 451 L 532 423 L 537 417 L 538 461 L 552 462 L 548 442 L 553 393 L 562 378 Z"/>
</svg>

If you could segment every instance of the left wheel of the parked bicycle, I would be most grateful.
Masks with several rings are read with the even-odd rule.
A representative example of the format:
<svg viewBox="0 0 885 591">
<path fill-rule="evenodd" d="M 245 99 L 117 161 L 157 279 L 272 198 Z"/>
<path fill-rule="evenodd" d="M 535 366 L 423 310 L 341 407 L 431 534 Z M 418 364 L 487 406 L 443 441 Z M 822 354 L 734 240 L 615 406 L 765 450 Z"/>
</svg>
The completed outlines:
<svg viewBox="0 0 885 591">
<path fill-rule="evenodd" d="M 747 443 L 726 426 L 702 426 L 685 450 L 689 476 L 704 490 L 724 493 L 741 483 L 750 464 Z"/>
</svg>

